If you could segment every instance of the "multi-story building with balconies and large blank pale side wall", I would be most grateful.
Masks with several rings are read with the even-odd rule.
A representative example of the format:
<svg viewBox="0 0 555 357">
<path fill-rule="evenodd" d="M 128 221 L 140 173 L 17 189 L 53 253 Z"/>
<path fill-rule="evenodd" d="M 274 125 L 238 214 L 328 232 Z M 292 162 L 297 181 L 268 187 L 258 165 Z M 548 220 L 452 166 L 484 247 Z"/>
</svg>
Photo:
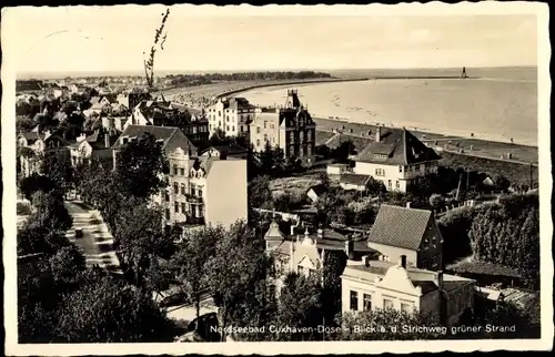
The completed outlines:
<svg viewBox="0 0 555 357">
<path fill-rule="evenodd" d="M 112 147 L 118 151 L 144 132 L 162 143 L 170 164 L 168 188 L 152 197 L 167 224 L 229 226 L 246 220 L 246 161 L 199 157 L 183 132 L 170 126 L 129 125 Z"/>
</svg>

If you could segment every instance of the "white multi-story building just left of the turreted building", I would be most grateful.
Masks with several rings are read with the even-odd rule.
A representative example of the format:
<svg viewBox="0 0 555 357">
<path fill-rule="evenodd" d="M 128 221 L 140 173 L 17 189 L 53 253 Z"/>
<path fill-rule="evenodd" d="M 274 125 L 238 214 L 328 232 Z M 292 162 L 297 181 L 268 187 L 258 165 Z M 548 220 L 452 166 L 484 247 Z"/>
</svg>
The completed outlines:
<svg viewBox="0 0 555 357">
<path fill-rule="evenodd" d="M 249 137 L 249 123 L 254 118 L 255 109 L 244 98 L 219 98 L 206 112 L 210 134 L 220 129 L 225 136 Z"/>
</svg>

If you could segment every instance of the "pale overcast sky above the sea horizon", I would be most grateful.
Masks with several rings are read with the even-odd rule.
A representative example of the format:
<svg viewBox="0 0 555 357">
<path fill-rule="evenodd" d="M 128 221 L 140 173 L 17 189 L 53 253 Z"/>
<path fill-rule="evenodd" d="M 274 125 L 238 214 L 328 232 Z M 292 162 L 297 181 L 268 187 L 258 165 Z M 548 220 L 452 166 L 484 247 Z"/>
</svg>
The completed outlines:
<svg viewBox="0 0 555 357">
<path fill-rule="evenodd" d="M 502 67 L 537 61 L 534 14 L 313 16 L 291 8 L 252 8 L 255 14 L 233 7 L 203 8 L 171 8 L 157 70 Z M 19 72 L 142 71 L 143 52 L 164 7 L 11 10 L 2 19 L 2 42 Z"/>
</svg>

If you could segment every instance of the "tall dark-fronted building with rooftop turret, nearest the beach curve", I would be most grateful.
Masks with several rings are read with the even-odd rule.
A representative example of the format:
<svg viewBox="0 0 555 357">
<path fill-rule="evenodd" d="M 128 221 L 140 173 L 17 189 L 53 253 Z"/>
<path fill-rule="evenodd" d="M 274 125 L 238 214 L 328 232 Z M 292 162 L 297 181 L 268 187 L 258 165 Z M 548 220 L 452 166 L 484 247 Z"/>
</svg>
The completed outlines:
<svg viewBox="0 0 555 357">
<path fill-rule="evenodd" d="M 296 90 L 287 91 L 283 108 L 256 109 L 251 123 L 251 144 L 263 151 L 266 143 L 281 147 L 285 159 L 312 163 L 315 154 L 316 124 L 303 108 Z"/>
</svg>

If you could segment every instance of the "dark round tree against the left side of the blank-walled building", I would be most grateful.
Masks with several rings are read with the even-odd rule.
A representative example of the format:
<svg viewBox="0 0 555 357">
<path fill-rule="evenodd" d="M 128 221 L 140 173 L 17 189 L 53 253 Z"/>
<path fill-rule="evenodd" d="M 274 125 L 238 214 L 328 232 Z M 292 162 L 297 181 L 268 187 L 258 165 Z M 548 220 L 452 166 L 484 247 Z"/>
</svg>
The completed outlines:
<svg viewBox="0 0 555 357">
<path fill-rule="evenodd" d="M 153 135 L 144 133 L 129 142 L 117 154 L 114 181 L 123 195 L 150 197 L 168 186 L 170 166 L 162 144 Z"/>
</svg>

